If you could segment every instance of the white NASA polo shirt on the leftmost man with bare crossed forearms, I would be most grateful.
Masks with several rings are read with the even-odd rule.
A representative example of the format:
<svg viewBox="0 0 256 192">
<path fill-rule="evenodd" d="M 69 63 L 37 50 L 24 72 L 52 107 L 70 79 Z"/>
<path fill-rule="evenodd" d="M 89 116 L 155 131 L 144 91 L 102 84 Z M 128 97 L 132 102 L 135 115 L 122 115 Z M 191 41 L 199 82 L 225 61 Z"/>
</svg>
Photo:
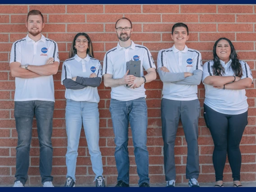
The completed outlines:
<svg viewBox="0 0 256 192">
<path fill-rule="evenodd" d="M 19 62 L 22 65 L 44 65 L 53 57 L 59 62 L 58 45 L 43 35 L 37 42 L 25 37 L 15 41 L 10 55 L 10 63 Z M 15 78 L 14 101 L 55 101 L 53 77 Z"/>
</svg>

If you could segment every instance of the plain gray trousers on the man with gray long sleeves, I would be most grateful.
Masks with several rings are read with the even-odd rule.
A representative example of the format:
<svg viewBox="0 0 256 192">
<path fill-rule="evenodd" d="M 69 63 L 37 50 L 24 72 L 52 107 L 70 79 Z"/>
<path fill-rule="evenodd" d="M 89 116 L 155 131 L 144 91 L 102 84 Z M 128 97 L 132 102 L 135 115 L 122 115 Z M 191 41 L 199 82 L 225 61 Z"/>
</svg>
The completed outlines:
<svg viewBox="0 0 256 192">
<path fill-rule="evenodd" d="M 181 119 L 187 142 L 186 178 L 199 176 L 198 152 L 198 118 L 200 114 L 199 100 L 174 101 L 163 98 L 161 101 L 162 136 L 164 140 L 165 180 L 176 178 L 174 143 Z"/>
</svg>

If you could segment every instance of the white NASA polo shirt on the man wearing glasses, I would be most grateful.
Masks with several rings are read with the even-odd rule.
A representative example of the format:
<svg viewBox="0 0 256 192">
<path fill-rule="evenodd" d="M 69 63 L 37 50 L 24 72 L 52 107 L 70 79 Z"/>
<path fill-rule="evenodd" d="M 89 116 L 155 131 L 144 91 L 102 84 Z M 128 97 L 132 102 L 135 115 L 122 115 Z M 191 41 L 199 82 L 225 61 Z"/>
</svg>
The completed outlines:
<svg viewBox="0 0 256 192">
<path fill-rule="evenodd" d="M 143 76 L 143 68 L 145 70 L 155 68 L 150 51 L 145 46 L 135 44 L 132 41 L 132 45 L 127 49 L 121 47 L 118 43 L 116 47 L 105 54 L 103 75 L 107 73 L 113 75 L 113 79 L 123 78 L 123 75 L 127 72 L 126 62 L 131 59 L 141 61 L 141 77 Z M 146 98 L 145 91 L 144 83 L 141 87 L 135 89 L 126 87 L 126 85 L 111 87 L 111 98 L 119 101 L 130 101 L 140 97 Z"/>
</svg>

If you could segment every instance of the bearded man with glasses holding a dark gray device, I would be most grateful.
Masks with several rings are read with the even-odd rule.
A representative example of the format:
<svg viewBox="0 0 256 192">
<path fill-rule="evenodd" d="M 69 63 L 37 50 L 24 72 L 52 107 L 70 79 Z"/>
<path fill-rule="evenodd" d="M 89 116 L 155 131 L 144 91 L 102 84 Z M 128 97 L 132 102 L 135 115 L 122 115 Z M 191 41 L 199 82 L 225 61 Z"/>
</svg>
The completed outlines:
<svg viewBox="0 0 256 192">
<path fill-rule="evenodd" d="M 115 187 L 129 187 L 128 125 L 130 122 L 139 186 L 150 187 L 146 147 L 147 106 L 145 82 L 155 80 L 155 64 L 145 46 L 131 41 L 132 22 L 120 18 L 115 23 L 119 43 L 105 54 L 103 75 L 105 87 L 111 87 L 110 113 L 115 135 L 115 160 L 118 171 Z M 141 77 L 128 75 L 126 62 L 141 62 Z M 147 74 L 143 76 L 143 68 Z M 128 85 L 128 87 L 126 86 Z M 130 86 L 130 87 L 129 87 Z"/>
</svg>

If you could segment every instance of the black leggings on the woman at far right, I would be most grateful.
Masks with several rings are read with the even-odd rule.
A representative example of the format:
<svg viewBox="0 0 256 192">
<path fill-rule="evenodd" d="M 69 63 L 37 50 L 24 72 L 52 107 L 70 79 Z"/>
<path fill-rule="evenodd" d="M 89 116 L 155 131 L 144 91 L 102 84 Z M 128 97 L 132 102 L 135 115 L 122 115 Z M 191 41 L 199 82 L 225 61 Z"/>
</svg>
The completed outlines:
<svg viewBox="0 0 256 192">
<path fill-rule="evenodd" d="M 223 170 L 228 153 L 234 181 L 240 181 L 242 156 L 239 145 L 248 123 L 248 111 L 242 114 L 222 114 L 204 104 L 204 118 L 214 142 L 213 166 L 216 181 L 223 181 Z"/>
</svg>

